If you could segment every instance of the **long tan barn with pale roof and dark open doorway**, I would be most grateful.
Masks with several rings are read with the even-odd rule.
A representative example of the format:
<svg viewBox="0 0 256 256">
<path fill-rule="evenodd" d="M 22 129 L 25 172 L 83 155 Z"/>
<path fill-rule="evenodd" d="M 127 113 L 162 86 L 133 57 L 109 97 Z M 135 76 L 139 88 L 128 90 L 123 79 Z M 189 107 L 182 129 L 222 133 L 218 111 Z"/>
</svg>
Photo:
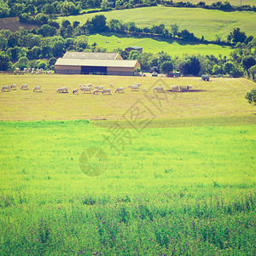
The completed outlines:
<svg viewBox="0 0 256 256">
<path fill-rule="evenodd" d="M 119 53 L 67 52 L 55 62 L 55 73 L 133 76 L 138 61 L 123 60 Z"/>
</svg>

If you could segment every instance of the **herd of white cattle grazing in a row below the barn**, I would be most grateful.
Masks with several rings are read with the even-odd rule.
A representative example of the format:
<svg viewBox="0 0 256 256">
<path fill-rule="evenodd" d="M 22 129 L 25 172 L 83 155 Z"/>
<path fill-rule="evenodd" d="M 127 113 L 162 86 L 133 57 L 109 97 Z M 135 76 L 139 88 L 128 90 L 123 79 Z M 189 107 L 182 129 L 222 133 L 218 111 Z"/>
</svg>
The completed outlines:
<svg viewBox="0 0 256 256">
<path fill-rule="evenodd" d="M 113 88 L 113 84 L 109 84 L 110 87 Z M 137 84 L 135 83 L 134 85 L 129 85 L 128 88 L 131 88 L 131 91 L 138 91 L 140 90 L 142 84 Z M 73 94 L 78 94 L 79 90 L 84 91 L 85 93 L 92 93 L 94 95 L 99 94 L 100 92 L 105 95 L 105 94 L 111 94 L 111 88 L 108 89 L 104 89 L 103 86 L 95 86 L 94 89 L 92 88 L 92 84 L 79 84 L 79 89 L 73 90 Z M 9 90 L 16 90 L 17 89 L 17 85 L 16 84 L 11 84 L 11 85 L 3 85 L 1 91 L 9 91 Z M 188 91 L 191 90 L 192 86 L 188 85 L 188 86 L 177 86 L 177 85 L 173 85 L 172 86 L 172 91 Z M 28 89 L 28 84 L 22 84 L 20 86 L 20 90 L 29 90 Z M 114 92 L 115 93 L 124 93 L 125 87 L 118 87 Z M 153 89 L 156 92 L 165 92 L 164 87 L 163 86 L 158 86 L 158 87 L 154 87 Z M 36 86 L 33 89 L 34 92 L 42 92 L 41 86 Z M 143 91 L 147 91 L 146 88 L 143 88 Z M 68 93 L 67 90 L 67 86 L 65 87 L 60 87 L 57 89 L 56 91 L 57 93 Z"/>
</svg>

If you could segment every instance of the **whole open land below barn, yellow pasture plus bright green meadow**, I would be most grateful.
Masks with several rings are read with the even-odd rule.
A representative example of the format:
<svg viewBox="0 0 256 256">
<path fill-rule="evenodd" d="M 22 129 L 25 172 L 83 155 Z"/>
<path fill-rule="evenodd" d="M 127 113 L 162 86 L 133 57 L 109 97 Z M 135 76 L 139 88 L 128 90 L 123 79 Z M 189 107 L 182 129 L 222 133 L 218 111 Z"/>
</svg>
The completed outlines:
<svg viewBox="0 0 256 256">
<path fill-rule="evenodd" d="M 14 83 L 30 90 L 0 93 L 0 255 L 255 253 L 253 82 L 0 76 Z"/>
</svg>

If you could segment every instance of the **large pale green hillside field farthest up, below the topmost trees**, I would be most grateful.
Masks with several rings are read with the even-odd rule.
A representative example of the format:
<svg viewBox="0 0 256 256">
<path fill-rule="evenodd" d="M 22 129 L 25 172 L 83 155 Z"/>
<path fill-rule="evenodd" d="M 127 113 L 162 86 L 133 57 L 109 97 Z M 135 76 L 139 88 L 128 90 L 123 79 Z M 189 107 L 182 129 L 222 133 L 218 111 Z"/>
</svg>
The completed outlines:
<svg viewBox="0 0 256 256">
<path fill-rule="evenodd" d="M 84 24 L 87 19 L 95 15 L 105 15 L 108 20 L 117 19 L 124 22 L 135 21 L 137 26 L 151 26 L 163 23 L 167 28 L 177 23 L 179 30 L 188 29 L 196 37 L 204 36 L 206 39 L 216 39 L 216 35 L 226 39 L 227 35 L 240 27 L 247 36 L 256 33 L 254 12 L 223 12 L 208 9 L 172 8 L 163 6 L 145 7 L 137 9 L 113 10 L 88 15 L 67 16 L 65 19 L 71 22 L 78 20 Z M 59 17 L 61 22 L 64 17 Z"/>
</svg>

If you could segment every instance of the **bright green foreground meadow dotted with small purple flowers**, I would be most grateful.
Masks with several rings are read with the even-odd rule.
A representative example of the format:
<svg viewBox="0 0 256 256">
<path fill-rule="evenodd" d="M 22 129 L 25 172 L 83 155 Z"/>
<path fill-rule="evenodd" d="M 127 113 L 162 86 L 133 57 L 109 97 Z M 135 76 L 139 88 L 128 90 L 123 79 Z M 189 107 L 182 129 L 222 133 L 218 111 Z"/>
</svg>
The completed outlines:
<svg viewBox="0 0 256 256">
<path fill-rule="evenodd" d="M 86 121 L 0 122 L 0 254 L 251 255 L 255 127 L 129 130 L 117 154 Z"/>
</svg>

